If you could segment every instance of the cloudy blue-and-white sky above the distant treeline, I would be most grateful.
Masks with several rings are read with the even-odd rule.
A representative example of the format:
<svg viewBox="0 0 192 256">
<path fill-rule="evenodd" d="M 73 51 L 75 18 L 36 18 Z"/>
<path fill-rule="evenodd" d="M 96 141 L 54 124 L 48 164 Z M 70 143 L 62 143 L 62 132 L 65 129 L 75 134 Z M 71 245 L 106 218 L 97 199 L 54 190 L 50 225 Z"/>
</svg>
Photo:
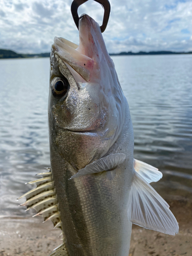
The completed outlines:
<svg viewBox="0 0 192 256">
<path fill-rule="evenodd" d="M 0 0 L 0 48 L 17 53 L 50 52 L 55 36 L 78 44 L 72 0 Z M 192 51 L 192 0 L 110 0 L 103 32 L 110 53 Z M 102 24 L 103 8 L 93 0 L 78 13 Z"/>
</svg>

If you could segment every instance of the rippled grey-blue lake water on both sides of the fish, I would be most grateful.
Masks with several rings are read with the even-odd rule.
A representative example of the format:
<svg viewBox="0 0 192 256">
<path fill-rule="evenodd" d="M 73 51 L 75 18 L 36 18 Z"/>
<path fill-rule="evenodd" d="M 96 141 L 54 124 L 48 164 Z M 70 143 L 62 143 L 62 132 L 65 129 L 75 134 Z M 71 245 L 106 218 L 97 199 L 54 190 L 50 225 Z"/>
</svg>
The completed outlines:
<svg viewBox="0 0 192 256">
<path fill-rule="evenodd" d="M 130 105 L 135 158 L 161 170 L 152 185 L 162 196 L 191 200 L 192 55 L 113 60 Z M 49 58 L 0 60 L 0 88 L 0 216 L 27 217 L 15 199 L 50 166 Z"/>
</svg>

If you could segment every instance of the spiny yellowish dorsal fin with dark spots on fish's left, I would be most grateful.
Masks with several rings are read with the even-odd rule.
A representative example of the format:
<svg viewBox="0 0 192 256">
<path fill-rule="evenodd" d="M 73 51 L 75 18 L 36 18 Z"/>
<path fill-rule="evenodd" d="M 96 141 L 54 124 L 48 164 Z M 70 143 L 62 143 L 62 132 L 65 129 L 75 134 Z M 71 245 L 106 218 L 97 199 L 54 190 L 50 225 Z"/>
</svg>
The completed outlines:
<svg viewBox="0 0 192 256">
<path fill-rule="evenodd" d="M 27 210 L 31 208 L 35 209 L 37 211 L 35 216 L 40 215 L 44 217 L 44 221 L 51 220 L 54 228 L 60 228 L 62 230 L 51 171 L 38 175 L 43 178 L 28 183 L 36 184 L 37 187 L 20 197 L 27 199 L 22 206 L 27 206 Z"/>
</svg>

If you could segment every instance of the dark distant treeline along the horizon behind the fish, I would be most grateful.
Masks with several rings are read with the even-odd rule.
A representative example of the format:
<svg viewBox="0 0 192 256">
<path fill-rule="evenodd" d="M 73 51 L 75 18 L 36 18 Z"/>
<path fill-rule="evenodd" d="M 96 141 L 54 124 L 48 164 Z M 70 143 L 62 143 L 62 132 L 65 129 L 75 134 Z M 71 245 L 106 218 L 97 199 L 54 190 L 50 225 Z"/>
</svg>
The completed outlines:
<svg viewBox="0 0 192 256">
<path fill-rule="evenodd" d="M 121 52 L 121 53 L 110 53 L 111 56 L 117 55 L 159 55 L 159 54 L 192 54 L 192 52 L 172 52 L 172 51 L 157 51 L 157 52 Z M 11 50 L 0 49 L 0 59 L 8 58 L 39 58 L 49 57 L 50 52 L 39 53 L 39 54 L 20 54 Z"/>
</svg>

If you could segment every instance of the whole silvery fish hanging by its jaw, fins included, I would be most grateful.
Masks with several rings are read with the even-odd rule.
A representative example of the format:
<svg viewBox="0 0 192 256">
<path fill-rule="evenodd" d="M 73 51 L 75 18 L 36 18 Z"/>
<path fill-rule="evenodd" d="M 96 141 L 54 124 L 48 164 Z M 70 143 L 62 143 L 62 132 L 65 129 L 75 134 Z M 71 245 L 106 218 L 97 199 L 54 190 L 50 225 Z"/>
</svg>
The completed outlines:
<svg viewBox="0 0 192 256">
<path fill-rule="evenodd" d="M 175 235 L 169 205 L 150 185 L 162 178 L 134 159 L 129 104 L 99 25 L 79 18 L 79 46 L 55 37 L 50 55 L 51 167 L 23 197 L 60 228 L 51 256 L 128 256 L 132 223 Z"/>
</svg>

